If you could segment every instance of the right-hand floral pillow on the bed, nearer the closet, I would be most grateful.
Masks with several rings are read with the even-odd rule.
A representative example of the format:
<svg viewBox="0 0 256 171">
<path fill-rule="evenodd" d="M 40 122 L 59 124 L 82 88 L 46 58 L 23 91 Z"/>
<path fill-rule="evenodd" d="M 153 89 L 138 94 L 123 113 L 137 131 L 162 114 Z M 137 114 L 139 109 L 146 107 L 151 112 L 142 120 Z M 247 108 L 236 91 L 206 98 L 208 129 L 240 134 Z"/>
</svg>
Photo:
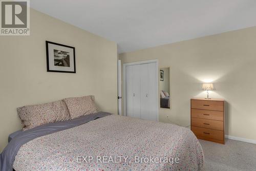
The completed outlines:
<svg viewBox="0 0 256 171">
<path fill-rule="evenodd" d="M 71 97 L 62 100 L 67 104 L 71 119 L 98 112 L 93 96 Z"/>
</svg>

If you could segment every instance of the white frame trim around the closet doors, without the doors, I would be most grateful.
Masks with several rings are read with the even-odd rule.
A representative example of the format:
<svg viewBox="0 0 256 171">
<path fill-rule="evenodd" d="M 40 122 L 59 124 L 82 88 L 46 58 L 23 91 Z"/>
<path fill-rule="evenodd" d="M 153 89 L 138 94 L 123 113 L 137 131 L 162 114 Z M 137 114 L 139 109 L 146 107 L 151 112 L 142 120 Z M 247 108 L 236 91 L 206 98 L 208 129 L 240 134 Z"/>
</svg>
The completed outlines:
<svg viewBox="0 0 256 171">
<path fill-rule="evenodd" d="M 158 59 L 154 60 L 144 60 L 144 61 L 138 61 L 138 62 L 131 62 L 131 63 L 123 63 L 123 116 L 126 116 L 126 66 L 134 66 L 134 65 L 141 65 L 146 63 L 156 63 L 156 91 L 159 92 L 159 67 L 158 67 Z M 159 94 L 159 93 L 157 93 Z M 158 95 L 159 96 L 159 95 Z M 157 96 L 157 121 L 159 121 L 159 99 Z"/>
</svg>

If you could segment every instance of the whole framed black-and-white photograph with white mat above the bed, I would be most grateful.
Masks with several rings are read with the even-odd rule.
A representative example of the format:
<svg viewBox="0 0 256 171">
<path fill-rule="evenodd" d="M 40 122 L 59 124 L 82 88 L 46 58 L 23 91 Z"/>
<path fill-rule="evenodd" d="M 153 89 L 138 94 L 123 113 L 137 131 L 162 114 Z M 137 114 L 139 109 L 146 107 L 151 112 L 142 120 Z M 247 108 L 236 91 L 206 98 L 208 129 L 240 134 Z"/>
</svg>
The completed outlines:
<svg viewBox="0 0 256 171">
<path fill-rule="evenodd" d="M 76 73 L 75 48 L 46 41 L 47 72 Z"/>
</svg>

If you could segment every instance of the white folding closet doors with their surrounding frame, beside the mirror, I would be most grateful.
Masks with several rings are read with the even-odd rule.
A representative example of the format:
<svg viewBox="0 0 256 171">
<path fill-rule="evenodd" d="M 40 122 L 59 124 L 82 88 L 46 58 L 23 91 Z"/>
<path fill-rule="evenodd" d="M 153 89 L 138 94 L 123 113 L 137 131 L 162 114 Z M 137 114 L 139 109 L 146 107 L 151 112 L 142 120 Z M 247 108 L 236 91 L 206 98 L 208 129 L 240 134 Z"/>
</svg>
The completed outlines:
<svg viewBox="0 0 256 171">
<path fill-rule="evenodd" d="M 125 115 L 158 120 L 158 62 L 124 64 Z"/>
</svg>

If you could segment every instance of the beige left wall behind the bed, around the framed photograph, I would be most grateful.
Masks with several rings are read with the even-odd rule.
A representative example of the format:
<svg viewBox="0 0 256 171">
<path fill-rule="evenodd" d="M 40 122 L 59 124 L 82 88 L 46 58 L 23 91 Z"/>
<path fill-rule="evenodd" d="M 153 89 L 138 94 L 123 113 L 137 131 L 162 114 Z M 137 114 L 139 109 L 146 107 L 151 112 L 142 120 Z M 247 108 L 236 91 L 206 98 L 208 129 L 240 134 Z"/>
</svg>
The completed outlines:
<svg viewBox="0 0 256 171">
<path fill-rule="evenodd" d="M 21 127 L 16 108 L 95 95 L 99 110 L 117 114 L 115 42 L 31 9 L 30 36 L 0 36 L 0 151 Z M 45 41 L 75 47 L 76 74 L 46 71 Z"/>
</svg>

